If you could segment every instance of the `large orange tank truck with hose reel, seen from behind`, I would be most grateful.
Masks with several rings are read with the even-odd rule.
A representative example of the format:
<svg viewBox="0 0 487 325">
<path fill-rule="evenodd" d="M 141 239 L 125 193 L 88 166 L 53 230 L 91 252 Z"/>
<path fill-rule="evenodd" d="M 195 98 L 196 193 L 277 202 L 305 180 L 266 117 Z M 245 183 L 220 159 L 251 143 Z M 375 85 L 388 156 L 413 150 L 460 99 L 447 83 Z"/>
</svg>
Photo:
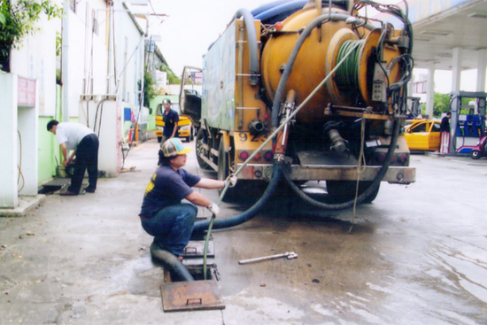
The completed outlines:
<svg viewBox="0 0 487 325">
<path fill-rule="evenodd" d="M 366 4 L 332 4 L 277 1 L 237 12 L 205 55 L 201 106 L 185 101 L 184 91 L 180 99 L 182 112 L 192 112 L 199 126 L 200 166 L 219 179 L 239 171 L 242 187 L 268 182 L 273 161 L 285 159 L 287 179 L 326 181 L 336 202 L 351 199 L 358 181 L 359 193 L 377 178 L 414 182 L 401 134 L 413 69 L 406 16 L 396 6 L 367 1 L 402 20 L 398 30 L 360 16 Z M 182 80 L 194 70 L 186 69 Z M 378 185 L 368 192 L 366 202 Z"/>
</svg>

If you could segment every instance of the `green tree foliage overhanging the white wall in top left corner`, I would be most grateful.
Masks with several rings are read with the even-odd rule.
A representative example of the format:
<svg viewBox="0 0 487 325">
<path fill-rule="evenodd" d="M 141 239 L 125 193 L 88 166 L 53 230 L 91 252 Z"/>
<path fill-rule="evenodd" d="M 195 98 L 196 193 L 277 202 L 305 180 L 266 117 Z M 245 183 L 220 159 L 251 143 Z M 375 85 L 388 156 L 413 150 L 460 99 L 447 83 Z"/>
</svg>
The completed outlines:
<svg viewBox="0 0 487 325">
<path fill-rule="evenodd" d="M 2 0 L 0 2 L 0 64 L 3 69 L 10 71 L 10 51 L 18 49 L 23 38 L 33 34 L 39 28 L 35 22 L 41 18 L 41 14 L 48 19 L 61 17 L 62 10 L 50 0 Z"/>
</svg>

